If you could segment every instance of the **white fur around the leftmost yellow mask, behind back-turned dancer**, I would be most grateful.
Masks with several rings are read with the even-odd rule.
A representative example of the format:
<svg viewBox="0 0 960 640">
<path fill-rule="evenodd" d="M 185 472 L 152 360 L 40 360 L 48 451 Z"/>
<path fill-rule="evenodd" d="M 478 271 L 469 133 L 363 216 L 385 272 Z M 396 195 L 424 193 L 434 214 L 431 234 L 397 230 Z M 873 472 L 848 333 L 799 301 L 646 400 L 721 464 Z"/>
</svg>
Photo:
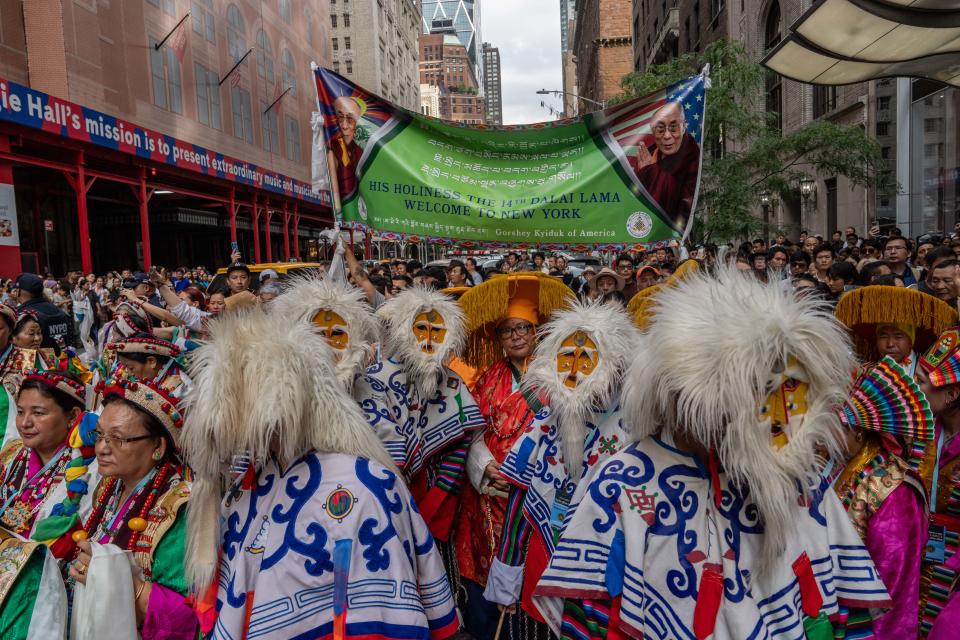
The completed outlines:
<svg viewBox="0 0 960 640">
<path fill-rule="evenodd" d="M 349 344 L 337 361 L 337 378 L 350 390 L 356 375 L 367 368 L 380 339 L 379 322 L 362 289 L 329 277 L 294 277 L 271 303 L 270 313 L 279 322 L 311 323 L 321 309 L 333 311 L 347 323 Z"/>
</svg>

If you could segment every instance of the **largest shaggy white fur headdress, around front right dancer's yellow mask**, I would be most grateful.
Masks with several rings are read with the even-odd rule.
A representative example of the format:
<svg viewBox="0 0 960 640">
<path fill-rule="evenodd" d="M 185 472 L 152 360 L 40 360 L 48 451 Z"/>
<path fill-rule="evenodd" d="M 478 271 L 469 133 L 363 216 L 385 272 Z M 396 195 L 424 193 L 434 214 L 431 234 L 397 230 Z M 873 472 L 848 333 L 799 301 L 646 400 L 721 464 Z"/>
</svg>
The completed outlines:
<svg viewBox="0 0 960 640">
<path fill-rule="evenodd" d="M 714 450 L 760 509 L 769 561 L 782 551 L 798 490 L 819 483 L 818 447 L 831 455 L 842 447 L 834 407 L 854 368 L 847 334 L 822 302 L 730 267 L 665 287 L 652 315 L 646 352 L 624 383 L 626 424 L 638 438 L 683 432 Z M 791 357 L 808 378 L 808 410 L 778 450 L 760 408 Z"/>
</svg>

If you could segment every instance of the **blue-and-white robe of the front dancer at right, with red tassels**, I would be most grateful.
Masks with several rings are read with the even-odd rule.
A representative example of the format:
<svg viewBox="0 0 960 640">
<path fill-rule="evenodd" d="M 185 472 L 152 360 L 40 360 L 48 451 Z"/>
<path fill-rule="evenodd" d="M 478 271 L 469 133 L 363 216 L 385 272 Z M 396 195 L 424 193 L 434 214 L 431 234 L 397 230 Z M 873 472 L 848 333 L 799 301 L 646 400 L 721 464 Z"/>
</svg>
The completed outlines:
<svg viewBox="0 0 960 640">
<path fill-rule="evenodd" d="M 809 505 L 798 500 L 782 562 L 761 572 L 756 505 L 722 472 L 719 483 L 717 508 L 708 470 L 669 439 L 631 444 L 597 469 L 536 588 L 534 600 L 554 631 L 562 599 L 619 597 L 619 629 L 629 636 L 693 639 L 700 579 L 713 564 L 723 576 L 714 640 L 801 640 L 803 594 L 794 564 L 803 554 L 822 595 L 820 612 L 835 614 L 839 604 L 889 606 L 834 492 Z M 562 633 L 577 635 L 566 627 Z"/>
</svg>

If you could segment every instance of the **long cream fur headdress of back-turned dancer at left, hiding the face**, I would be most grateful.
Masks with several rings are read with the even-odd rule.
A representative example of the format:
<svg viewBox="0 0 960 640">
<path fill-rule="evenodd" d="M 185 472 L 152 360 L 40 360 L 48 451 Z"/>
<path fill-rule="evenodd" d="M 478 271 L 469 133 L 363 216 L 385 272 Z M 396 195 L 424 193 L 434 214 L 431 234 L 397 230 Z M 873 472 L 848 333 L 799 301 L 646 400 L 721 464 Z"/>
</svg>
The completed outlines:
<svg viewBox="0 0 960 640">
<path fill-rule="evenodd" d="M 259 307 L 219 316 L 193 352 L 181 446 L 195 481 L 186 567 L 202 590 L 216 573 L 220 501 L 233 456 L 289 464 L 309 451 L 346 453 L 393 468 L 359 405 L 336 382 L 323 336 L 278 323 Z"/>
</svg>

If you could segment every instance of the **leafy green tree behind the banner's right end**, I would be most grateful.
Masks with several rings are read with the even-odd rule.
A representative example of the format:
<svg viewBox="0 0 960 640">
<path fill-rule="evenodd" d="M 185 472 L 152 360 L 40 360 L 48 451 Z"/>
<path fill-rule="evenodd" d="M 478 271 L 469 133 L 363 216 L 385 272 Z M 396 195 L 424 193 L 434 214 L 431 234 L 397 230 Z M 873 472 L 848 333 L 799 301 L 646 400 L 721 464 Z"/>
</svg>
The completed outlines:
<svg viewBox="0 0 960 640">
<path fill-rule="evenodd" d="M 719 40 L 702 53 L 680 56 L 631 73 L 621 81 L 617 104 L 652 93 L 711 67 L 703 138 L 703 173 L 691 240 L 725 242 L 760 231 L 752 215 L 760 194 L 781 198 L 796 193 L 801 178 L 842 175 L 853 184 L 885 184 L 880 146 L 859 125 L 815 120 L 781 133 L 764 109 L 768 71 L 743 46 Z"/>
</svg>

